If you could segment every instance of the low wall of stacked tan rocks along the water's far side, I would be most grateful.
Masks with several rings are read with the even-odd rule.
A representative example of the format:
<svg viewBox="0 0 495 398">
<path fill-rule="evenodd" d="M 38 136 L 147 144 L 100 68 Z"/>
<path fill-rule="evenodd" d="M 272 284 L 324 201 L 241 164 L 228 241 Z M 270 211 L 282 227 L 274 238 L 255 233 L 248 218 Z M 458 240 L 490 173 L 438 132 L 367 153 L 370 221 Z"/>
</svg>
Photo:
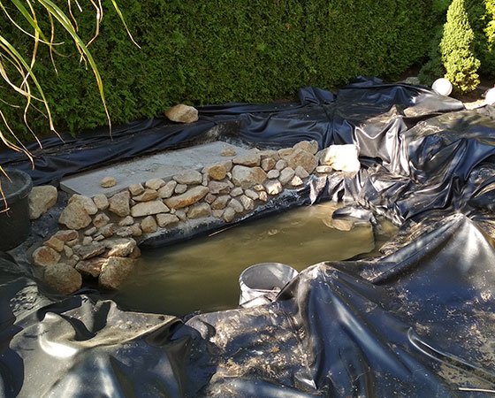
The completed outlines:
<svg viewBox="0 0 495 398">
<path fill-rule="evenodd" d="M 138 244 L 149 236 L 202 219 L 228 225 L 286 190 L 303 188 L 311 175 L 360 168 L 354 145 L 318 152 L 315 141 L 223 155 L 225 161 L 201 172 L 143 181 L 110 197 L 72 195 L 58 218 L 61 228 L 34 250 L 33 264 L 44 268 L 45 282 L 59 293 L 75 292 L 83 279 L 115 289 L 132 272 L 141 256 Z"/>
</svg>

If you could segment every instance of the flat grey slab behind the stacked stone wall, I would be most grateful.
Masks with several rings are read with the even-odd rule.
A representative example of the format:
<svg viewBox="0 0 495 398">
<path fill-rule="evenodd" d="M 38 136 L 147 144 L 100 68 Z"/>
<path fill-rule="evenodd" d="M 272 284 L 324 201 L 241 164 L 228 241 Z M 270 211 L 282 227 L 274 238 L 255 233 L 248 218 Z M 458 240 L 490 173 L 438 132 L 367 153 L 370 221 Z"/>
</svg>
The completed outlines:
<svg viewBox="0 0 495 398">
<path fill-rule="evenodd" d="M 225 148 L 232 148 L 237 155 L 244 155 L 248 150 L 221 141 L 209 142 L 191 148 L 167 150 L 148 157 L 138 157 L 89 172 L 74 174 L 61 180 L 60 188 L 69 194 L 89 197 L 98 194 L 114 195 L 131 184 L 156 178 L 168 181 L 180 172 L 201 171 L 206 165 L 232 159 L 233 157 L 221 155 Z M 113 177 L 117 180 L 117 184 L 111 188 L 102 188 L 100 181 L 103 177 Z"/>
</svg>

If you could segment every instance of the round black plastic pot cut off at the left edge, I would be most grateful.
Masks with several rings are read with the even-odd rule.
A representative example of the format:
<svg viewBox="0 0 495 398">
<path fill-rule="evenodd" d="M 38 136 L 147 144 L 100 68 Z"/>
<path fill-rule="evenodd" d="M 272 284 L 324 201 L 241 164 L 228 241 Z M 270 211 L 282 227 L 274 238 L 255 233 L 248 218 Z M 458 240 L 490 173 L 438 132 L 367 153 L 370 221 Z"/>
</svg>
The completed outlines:
<svg viewBox="0 0 495 398">
<path fill-rule="evenodd" d="M 9 179 L 0 175 L 7 202 L 0 200 L 0 251 L 13 249 L 26 240 L 31 229 L 27 196 L 33 188 L 29 174 L 20 170 L 6 170 Z"/>
</svg>

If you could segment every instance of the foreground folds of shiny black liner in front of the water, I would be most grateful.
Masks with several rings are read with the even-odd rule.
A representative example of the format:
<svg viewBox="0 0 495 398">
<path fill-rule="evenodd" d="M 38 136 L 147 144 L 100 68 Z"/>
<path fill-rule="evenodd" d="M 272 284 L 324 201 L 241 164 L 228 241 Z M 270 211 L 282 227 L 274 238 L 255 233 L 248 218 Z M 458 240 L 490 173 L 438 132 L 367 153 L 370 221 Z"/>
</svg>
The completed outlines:
<svg viewBox="0 0 495 398">
<path fill-rule="evenodd" d="M 1 288 L 6 396 L 483 396 L 495 250 L 462 215 L 373 262 L 316 264 L 278 300 L 186 324 Z M 7 302 L 7 298 L 10 302 Z"/>
</svg>

